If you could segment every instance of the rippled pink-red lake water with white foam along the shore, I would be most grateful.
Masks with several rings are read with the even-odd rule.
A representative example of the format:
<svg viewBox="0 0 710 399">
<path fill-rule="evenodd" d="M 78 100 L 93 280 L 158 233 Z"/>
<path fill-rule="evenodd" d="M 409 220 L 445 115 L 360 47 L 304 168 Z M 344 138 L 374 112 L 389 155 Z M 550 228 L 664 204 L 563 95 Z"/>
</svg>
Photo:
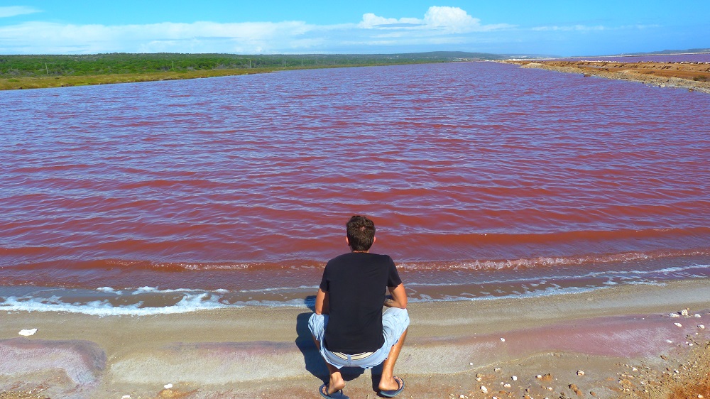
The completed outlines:
<svg viewBox="0 0 710 399">
<path fill-rule="evenodd" d="M 302 298 L 358 213 L 422 300 L 710 275 L 708 94 L 476 62 L 0 97 L 6 307 Z"/>
</svg>

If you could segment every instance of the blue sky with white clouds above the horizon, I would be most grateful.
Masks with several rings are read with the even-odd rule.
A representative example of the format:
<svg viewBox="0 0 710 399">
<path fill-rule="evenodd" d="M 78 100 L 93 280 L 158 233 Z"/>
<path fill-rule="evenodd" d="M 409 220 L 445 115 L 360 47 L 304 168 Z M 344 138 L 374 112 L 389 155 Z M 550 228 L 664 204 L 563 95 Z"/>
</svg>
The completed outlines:
<svg viewBox="0 0 710 399">
<path fill-rule="evenodd" d="M 609 55 L 710 48 L 707 0 L 21 1 L 0 54 Z"/>
</svg>

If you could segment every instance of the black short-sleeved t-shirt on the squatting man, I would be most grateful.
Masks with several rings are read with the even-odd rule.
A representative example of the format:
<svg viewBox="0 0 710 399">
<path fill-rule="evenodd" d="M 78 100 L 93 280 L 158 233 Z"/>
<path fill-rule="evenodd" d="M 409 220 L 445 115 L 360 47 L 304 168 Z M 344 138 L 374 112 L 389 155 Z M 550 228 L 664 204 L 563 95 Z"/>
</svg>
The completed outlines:
<svg viewBox="0 0 710 399">
<path fill-rule="evenodd" d="M 320 289 L 329 295 L 325 347 L 344 354 L 380 349 L 386 290 L 401 283 L 387 255 L 352 252 L 331 259 L 320 282 Z"/>
</svg>

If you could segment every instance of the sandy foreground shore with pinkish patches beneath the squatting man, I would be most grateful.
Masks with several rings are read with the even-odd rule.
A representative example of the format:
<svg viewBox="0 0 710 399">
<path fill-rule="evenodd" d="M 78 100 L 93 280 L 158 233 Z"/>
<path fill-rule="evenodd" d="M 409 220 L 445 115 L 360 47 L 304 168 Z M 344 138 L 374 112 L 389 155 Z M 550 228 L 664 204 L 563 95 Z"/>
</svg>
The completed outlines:
<svg viewBox="0 0 710 399">
<path fill-rule="evenodd" d="M 653 398 L 689 378 L 688 356 L 708 362 L 710 335 L 698 326 L 710 327 L 709 310 L 706 280 L 413 303 L 395 368 L 406 382 L 400 397 Z M 317 398 L 326 368 L 309 316 L 307 307 L 149 317 L 4 312 L 0 398 Z M 351 398 L 377 397 L 376 369 L 346 379 Z"/>
</svg>

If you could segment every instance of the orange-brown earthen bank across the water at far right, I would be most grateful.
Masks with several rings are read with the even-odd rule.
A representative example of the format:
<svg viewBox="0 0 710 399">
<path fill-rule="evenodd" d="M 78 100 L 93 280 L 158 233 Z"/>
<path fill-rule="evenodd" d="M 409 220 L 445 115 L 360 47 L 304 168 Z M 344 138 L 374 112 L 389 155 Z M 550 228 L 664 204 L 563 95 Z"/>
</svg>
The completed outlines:
<svg viewBox="0 0 710 399">
<path fill-rule="evenodd" d="M 682 87 L 710 93 L 710 64 L 705 62 L 610 62 L 506 60 L 526 68 L 581 73 L 607 79 L 630 80 L 659 87 Z"/>
</svg>

